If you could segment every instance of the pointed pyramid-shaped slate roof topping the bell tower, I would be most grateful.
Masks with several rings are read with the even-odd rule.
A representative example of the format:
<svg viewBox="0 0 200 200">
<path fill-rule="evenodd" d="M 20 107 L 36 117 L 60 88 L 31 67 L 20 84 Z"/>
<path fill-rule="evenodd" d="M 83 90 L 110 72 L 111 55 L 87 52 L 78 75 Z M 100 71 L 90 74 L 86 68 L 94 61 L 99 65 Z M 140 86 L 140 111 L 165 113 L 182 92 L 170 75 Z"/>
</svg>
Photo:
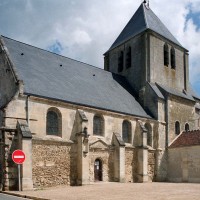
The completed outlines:
<svg viewBox="0 0 200 200">
<path fill-rule="evenodd" d="M 112 44 L 109 50 L 119 46 L 123 42 L 130 38 L 142 33 L 143 31 L 150 29 L 173 43 L 182 47 L 178 40 L 170 33 L 166 26 L 160 21 L 160 19 L 154 14 L 154 12 L 148 8 L 144 3 L 140 5 L 128 24 L 122 30 L 118 38 Z"/>
</svg>

